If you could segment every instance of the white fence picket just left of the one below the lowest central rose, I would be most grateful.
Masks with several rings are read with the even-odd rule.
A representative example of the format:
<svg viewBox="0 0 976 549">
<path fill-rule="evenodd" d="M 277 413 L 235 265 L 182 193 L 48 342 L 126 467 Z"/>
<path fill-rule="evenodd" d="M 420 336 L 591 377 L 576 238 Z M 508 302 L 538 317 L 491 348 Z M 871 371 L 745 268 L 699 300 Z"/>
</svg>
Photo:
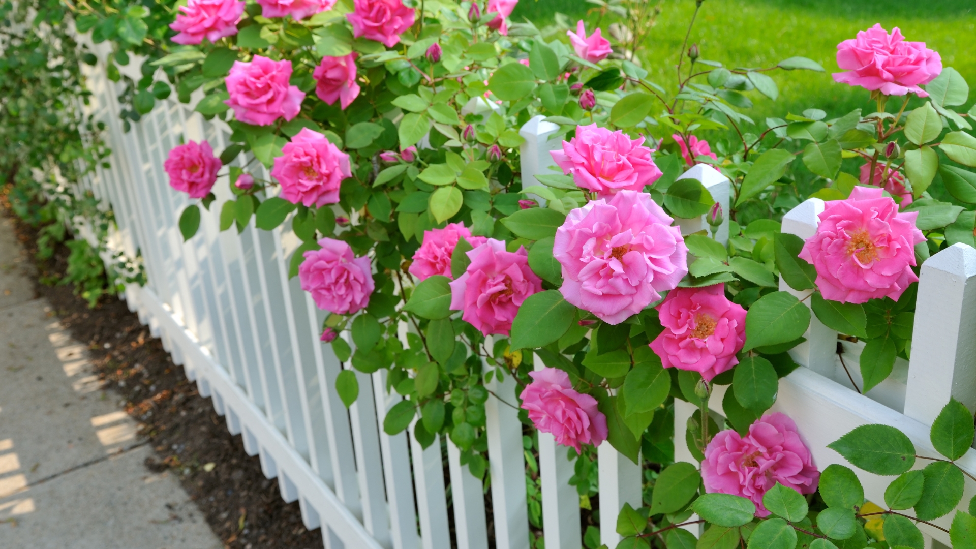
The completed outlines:
<svg viewBox="0 0 976 549">
<path fill-rule="evenodd" d="M 525 491 L 525 454 L 522 422 L 518 420 L 515 378 L 502 383 L 493 377 L 487 384 L 493 393 L 485 402 L 488 465 L 491 472 L 495 545 L 529 549 L 529 512 Z"/>
</svg>

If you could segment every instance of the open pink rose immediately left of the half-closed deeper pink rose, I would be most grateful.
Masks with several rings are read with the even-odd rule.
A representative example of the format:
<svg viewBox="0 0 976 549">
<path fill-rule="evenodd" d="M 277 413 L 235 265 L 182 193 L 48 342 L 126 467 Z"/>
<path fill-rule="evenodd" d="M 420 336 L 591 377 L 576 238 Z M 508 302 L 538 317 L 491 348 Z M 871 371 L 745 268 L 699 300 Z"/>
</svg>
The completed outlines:
<svg viewBox="0 0 976 549">
<path fill-rule="evenodd" d="M 254 56 L 250 63 L 235 61 L 224 79 L 234 116 L 245 124 L 267 126 L 278 118 L 295 118 L 302 110 L 305 93 L 288 84 L 292 62 Z"/>
</svg>

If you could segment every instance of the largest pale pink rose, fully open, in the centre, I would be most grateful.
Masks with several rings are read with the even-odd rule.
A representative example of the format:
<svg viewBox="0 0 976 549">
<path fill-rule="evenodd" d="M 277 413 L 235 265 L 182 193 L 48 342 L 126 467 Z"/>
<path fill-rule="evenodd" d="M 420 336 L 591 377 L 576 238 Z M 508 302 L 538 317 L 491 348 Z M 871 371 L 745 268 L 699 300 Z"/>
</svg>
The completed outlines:
<svg viewBox="0 0 976 549">
<path fill-rule="evenodd" d="M 566 301 L 619 324 L 688 273 L 681 230 L 651 195 L 621 190 L 576 208 L 555 232 Z"/>
</svg>

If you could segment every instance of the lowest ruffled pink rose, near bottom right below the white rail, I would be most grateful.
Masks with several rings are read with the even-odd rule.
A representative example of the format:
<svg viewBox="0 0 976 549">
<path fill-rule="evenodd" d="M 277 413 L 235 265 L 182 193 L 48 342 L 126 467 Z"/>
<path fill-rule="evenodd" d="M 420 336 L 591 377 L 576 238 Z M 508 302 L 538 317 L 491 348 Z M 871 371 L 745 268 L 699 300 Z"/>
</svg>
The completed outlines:
<svg viewBox="0 0 976 549">
<path fill-rule="evenodd" d="M 702 481 L 708 493 L 748 497 L 755 516 L 766 517 L 762 496 L 779 483 L 799 493 L 817 491 L 820 472 L 813 456 L 796 433 L 796 424 L 782 413 L 768 413 L 740 437 L 727 429 L 705 448 Z"/>
</svg>

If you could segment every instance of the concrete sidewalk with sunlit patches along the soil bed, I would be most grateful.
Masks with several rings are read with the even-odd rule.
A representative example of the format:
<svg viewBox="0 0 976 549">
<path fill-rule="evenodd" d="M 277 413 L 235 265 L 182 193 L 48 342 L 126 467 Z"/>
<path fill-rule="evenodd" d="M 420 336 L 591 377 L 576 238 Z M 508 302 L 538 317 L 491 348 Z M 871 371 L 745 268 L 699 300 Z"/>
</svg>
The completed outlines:
<svg viewBox="0 0 976 549">
<path fill-rule="evenodd" d="M 0 547 L 217 549 L 223 545 L 102 391 L 85 346 L 43 299 L 0 218 Z"/>
</svg>

